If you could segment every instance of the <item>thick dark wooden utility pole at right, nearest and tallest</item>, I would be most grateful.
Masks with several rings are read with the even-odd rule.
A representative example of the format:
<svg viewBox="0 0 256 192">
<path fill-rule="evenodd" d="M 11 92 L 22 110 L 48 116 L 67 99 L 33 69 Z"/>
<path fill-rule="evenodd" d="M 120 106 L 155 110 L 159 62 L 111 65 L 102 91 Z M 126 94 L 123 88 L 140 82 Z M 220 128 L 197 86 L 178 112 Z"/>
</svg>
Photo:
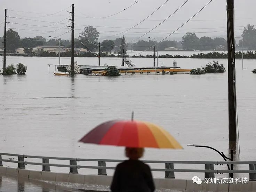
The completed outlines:
<svg viewBox="0 0 256 192">
<path fill-rule="evenodd" d="M 237 141 L 235 109 L 234 0 L 227 0 L 227 57 L 229 85 L 229 141 Z"/>
</svg>

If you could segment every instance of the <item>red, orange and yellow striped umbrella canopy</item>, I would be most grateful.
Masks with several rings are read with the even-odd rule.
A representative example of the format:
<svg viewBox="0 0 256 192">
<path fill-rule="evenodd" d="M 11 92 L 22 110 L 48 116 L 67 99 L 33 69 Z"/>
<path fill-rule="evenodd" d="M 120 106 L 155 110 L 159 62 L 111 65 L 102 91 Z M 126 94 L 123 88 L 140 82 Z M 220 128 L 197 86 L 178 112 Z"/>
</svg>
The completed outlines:
<svg viewBox="0 0 256 192">
<path fill-rule="evenodd" d="M 163 128 L 143 121 L 107 121 L 95 127 L 80 142 L 126 147 L 183 149 Z"/>
</svg>

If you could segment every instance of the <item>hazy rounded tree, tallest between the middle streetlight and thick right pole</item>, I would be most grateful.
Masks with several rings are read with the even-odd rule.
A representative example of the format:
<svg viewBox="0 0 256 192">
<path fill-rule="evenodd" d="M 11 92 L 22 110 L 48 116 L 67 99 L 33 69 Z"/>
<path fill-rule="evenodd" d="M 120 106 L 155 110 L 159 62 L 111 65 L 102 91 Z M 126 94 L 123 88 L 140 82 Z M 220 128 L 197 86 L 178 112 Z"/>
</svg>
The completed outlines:
<svg viewBox="0 0 256 192">
<path fill-rule="evenodd" d="M 183 49 L 200 49 L 200 40 L 195 33 L 186 33 L 182 37 Z"/>
</svg>

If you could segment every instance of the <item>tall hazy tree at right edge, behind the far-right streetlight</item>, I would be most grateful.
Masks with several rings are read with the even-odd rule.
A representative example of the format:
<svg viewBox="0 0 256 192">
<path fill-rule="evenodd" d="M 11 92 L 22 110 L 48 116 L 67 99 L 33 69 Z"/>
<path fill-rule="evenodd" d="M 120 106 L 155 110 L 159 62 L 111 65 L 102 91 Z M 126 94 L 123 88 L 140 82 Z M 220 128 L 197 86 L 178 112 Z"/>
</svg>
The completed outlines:
<svg viewBox="0 0 256 192">
<path fill-rule="evenodd" d="M 241 36 L 243 37 L 243 46 L 246 46 L 250 49 L 255 48 L 256 29 L 254 28 L 254 25 L 248 24 L 247 27 L 244 28 Z M 242 47 L 242 40 L 239 41 L 239 46 Z"/>
</svg>

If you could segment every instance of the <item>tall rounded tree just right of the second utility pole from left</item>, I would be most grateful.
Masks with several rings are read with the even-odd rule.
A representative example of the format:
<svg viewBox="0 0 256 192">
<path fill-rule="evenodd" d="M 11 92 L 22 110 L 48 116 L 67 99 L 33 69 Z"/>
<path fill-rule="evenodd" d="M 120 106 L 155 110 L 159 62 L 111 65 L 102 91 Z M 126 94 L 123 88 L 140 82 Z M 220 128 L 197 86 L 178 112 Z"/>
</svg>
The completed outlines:
<svg viewBox="0 0 256 192">
<path fill-rule="evenodd" d="M 92 51 L 94 48 L 97 48 L 99 32 L 95 27 L 87 25 L 84 30 L 80 32 L 78 37 L 82 41 L 83 45 L 87 47 L 87 49 Z"/>
</svg>

